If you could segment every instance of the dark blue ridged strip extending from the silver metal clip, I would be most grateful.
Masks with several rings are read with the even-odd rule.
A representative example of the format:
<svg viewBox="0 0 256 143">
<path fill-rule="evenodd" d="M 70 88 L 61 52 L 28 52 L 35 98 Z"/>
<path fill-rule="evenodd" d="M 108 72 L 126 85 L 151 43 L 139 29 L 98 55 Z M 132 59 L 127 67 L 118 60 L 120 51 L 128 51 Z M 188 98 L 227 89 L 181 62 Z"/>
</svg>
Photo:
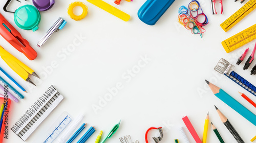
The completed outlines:
<svg viewBox="0 0 256 143">
<path fill-rule="evenodd" d="M 247 91 L 251 92 L 254 96 L 256 96 L 256 87 L 248 82 L 246 79 L 238 75 L 236 72 L 231 71 L 229 75 L 224 74 L 232 81 L 236 82 L 238 85 L 246 89 Z"/>
</svg>

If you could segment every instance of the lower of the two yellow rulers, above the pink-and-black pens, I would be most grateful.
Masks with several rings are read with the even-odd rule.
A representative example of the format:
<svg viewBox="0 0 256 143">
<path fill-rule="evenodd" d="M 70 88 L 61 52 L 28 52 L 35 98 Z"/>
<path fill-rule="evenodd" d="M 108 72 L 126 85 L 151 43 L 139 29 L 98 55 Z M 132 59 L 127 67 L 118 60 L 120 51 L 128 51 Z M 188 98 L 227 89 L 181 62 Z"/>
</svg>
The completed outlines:
<svg viewBox="0 0 256 143">
<path fill-rule="evenodd" d="M 221 42 L 227 53 L 256 39 L 256 24 Z"/>
</svg>

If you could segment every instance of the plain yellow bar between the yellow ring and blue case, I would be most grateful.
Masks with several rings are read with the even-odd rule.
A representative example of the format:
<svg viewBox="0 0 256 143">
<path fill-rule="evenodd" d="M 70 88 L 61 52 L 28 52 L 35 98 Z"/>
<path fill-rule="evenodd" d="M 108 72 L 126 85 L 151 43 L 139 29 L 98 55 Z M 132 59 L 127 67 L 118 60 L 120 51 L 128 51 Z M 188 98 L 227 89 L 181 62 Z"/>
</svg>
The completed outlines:
<svg viewBox="0 0 256 143">
<path fill-rule="evenodd" d="M 109 12 L 110 14 L 115 15 L 116 17 L 124 20 L 124 21 L 129 21 L 130 15 L 122 12 L 121 10 L 111 6 L 108 3 L 105 3 L 102 0 L 87 0 L 89 3 L 92 3 L 93 5 L 105 10 L 106 12 Z"/>
</svg>

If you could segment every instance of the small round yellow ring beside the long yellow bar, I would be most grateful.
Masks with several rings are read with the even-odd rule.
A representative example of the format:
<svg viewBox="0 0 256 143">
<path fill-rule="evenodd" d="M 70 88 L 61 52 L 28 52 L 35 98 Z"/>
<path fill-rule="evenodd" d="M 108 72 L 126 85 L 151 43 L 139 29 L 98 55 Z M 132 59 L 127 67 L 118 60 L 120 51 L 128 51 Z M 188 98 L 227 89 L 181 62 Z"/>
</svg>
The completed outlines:
<svg viewBox="0 0 256 143">
<path fill-rule="evenodd" d="M 74 14 L 73 9 L 76 6 L 79 6 L 79 7 L 82 8 L 82 14 L 81 15 L 75 15 Z M 84 3 L 82 3 L 82 2 L 74 2 L 74 3 L 71 3 L 69 5 L 68 14 L 69 14 L 70 18 L 72 18 L 74 20 L 81 20 L 81 19 L 83 19 L 84 17 L 86 17 L 87 13 L 88 13 L 88 7 Z"/>
</svg>

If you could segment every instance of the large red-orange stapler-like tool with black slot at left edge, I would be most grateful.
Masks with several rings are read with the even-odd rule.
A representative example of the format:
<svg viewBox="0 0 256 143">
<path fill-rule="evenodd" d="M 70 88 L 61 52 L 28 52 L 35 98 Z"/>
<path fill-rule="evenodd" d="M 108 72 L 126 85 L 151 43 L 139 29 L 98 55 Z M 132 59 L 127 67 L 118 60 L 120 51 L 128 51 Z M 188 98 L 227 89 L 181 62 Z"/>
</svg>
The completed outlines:
<svg viewBox="0 0 256 143">
<path fill-rule="evenodd" d="M 35 50 L 29 42 L 5 19 L 0 13 L 0 35 L 7 40 L 16 50 L 23 53 L 28 59 L 34 60 L 37 57 Z"/>
</svg>

